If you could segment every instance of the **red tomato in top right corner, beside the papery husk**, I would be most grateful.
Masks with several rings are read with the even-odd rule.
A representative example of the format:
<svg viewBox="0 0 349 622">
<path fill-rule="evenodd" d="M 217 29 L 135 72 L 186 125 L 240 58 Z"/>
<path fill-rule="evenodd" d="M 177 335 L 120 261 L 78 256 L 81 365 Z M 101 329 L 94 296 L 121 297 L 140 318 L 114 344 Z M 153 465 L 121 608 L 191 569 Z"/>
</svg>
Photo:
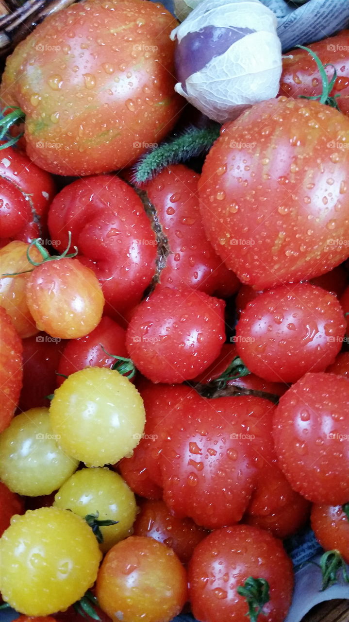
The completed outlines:
<svg viewBox="0 0 349 622">
<path fill-rule="evenodd" d="M 326 37 L 309 45 L 323 65 L 329 80 L 333 77 L 333 68 L 337 72 L 331 96 L 337 98 L 338 108 L 343 114 L 349 114 L 349 30 L 342 30 L 335 37 Z M 322 94 L 322 80 L 315 60 L 306 50 L 291 50 L 283 56 L 283 73 L 280 78 L 279 95 L 299 97 Z"/>
</svg>

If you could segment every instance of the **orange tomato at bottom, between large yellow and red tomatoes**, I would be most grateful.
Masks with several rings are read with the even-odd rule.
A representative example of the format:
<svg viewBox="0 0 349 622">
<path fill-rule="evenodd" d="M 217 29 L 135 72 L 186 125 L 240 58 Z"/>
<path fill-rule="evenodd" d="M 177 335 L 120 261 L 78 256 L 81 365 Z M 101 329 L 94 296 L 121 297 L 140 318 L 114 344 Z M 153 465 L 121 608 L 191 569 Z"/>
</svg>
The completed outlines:
<svg viewBox="0 0 349 622">
<path fill-rule="evenodd" d="M 131 536 L 104 557 L 96 596 L 114 622 L 170 622 L 186 602 L 186 571 L 165 544 Z"/>
</svg>

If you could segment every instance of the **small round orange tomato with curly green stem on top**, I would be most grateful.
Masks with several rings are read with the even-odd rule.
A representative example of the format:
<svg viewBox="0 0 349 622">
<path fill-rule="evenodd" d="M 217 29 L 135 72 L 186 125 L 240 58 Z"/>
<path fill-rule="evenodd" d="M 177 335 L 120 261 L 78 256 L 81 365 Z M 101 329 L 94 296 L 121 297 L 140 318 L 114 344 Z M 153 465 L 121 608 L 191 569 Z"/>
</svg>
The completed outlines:
<svg viewBox="0 0 349 622">
<path fill-rule="evenodd" d="M 51 337 L 84 337 L 102 317 L 101 285 L 78 259 L 47 261 L 35 267 L 25 294 L 37 328 Z"/>
</svg>

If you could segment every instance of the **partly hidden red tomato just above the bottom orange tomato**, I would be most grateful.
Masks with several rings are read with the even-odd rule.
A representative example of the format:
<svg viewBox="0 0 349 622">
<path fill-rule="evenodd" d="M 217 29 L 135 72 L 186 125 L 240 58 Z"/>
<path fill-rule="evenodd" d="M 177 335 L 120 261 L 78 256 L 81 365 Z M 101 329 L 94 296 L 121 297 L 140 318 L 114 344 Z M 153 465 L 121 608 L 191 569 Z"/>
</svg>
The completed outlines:
<svg viewBox="0 0 349 622">
<path fill-rule="evenodd" d="M 193 551 L 207 531 L 190 518 L 177 518 L 163 501 L 142 501 L 134 522 L 134 535 L 163 542 L 174 550 L 182 564 L 188 564 Z"/>
</svg>

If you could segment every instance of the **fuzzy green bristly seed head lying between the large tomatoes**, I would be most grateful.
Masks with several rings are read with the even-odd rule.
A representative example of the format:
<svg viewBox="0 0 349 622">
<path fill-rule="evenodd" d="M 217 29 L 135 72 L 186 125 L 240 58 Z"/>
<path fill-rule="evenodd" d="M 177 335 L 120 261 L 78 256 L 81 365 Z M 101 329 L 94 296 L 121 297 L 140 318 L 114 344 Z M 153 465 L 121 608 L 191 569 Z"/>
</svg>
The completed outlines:
<svg viewBox="0 0 349 622">
<path fill-rule="evenodd" d="M 187 162 L 211 149 L 219 137 L 220 126 L 212 123 L 208 128 L 190 128 L 170 142 L 163 142 L 159 147 L 145 154 L 135 165 L 134 183 L 137 186 L 148 182 L 166 166 Z"/>
</svg>

